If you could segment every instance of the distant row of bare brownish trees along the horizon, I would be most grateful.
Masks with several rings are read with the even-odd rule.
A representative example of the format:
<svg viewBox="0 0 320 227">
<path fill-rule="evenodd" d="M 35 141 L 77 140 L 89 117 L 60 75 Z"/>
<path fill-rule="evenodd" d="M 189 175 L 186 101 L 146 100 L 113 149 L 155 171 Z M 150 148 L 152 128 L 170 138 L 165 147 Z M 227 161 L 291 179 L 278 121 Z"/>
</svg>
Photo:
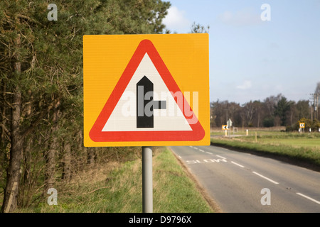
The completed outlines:
<svg viewBox="0 0 320 227">
<path fill-rule="evenodd" d="M 320 94 L 320 82 L 316 94 Z M 286 126 L 287 131 L 298 131 L 299 123 L 306 123 L 306 128 L 318 131 L 320 127 L 316 103 L 309 100 L 290 101 L 282 94 L 269 96 L 263 101 L 248 101 L 240 105 L 229 101 L 210 103 L 211 127 L 226 125 L 228 119 L 235 127 L 274 127 Z"/>
</svg>

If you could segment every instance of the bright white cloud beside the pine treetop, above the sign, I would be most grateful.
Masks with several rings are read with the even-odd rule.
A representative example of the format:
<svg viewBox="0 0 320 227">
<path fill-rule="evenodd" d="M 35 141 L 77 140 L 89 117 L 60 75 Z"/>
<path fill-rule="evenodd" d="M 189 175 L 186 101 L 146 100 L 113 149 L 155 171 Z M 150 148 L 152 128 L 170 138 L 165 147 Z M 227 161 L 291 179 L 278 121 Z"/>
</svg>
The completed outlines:
<svg viewBox="0 0 320 227">
<path fill-rule="evenodd" d="M 168 14 L 162 21 L 170 31 L 186 33 L 191 28 L 191 22 L 186 18 L 186 12 L 180 11 L 176 6 L 168 9 Z"/>
</svg>

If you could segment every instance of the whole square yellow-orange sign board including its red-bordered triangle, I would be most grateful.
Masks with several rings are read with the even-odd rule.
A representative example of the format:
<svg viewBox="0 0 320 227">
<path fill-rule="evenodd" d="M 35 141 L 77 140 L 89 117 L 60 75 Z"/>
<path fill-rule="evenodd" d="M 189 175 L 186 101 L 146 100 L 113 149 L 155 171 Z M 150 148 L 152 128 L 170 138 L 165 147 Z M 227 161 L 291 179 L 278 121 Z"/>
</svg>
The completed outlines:
<svg viewBox="0 0 320 227">
<path fill-rule="evenodd" d="M 84 35 L 87 147 L 210 145 L 208 34 Z"/>
</svg>

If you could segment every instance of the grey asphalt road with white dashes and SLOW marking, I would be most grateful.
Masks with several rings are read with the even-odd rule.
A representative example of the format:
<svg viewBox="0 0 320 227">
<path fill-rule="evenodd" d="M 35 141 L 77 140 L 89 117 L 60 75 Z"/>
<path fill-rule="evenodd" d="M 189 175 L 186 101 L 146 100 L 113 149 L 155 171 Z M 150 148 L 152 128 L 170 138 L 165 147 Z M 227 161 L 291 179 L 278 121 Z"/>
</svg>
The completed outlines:
<svg viewBox="0 0 320 227">
<path fill-rule="evenodd" d="M 320 213 L 320 172 L 212 145 L 171 150 L 225 213 Z"/>
</svg>

